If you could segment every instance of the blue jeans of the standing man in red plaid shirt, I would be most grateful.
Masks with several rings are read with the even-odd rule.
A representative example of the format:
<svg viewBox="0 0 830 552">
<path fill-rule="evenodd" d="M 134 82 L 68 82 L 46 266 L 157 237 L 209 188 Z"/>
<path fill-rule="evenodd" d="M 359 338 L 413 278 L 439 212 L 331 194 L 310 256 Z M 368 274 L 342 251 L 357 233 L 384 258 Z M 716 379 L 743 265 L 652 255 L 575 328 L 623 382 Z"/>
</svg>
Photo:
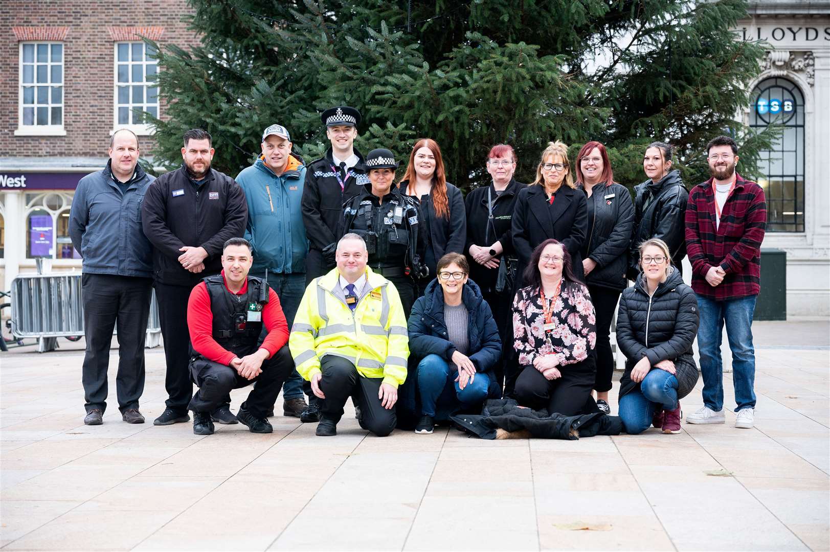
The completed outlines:
<svg viewBox="0 0 830 552">
<path fill-rule="evenodd" d="M 703 403 L 715 411 L 724 407 L 723 361 L 720 344 L 726 325 L 726 337 L 732 350 L 732 381 L 735 403 L 741 408 L 755 407 L 755 349 L 752 346 L 752 316 L 758 296 L 725 301 L 697 297 L 701 325 L 697 330 L 697 347 L 701 352 Z"/>
</svg>

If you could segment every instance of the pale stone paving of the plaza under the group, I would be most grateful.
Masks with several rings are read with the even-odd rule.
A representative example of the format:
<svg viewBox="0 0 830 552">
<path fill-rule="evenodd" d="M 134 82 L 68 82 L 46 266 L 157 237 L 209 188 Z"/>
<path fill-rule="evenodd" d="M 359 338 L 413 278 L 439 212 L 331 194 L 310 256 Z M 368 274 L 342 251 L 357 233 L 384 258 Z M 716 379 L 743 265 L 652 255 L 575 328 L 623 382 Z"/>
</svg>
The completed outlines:
<svg viewBox="0 0 830 552">
<path fill-rule="evenodd" d="M 754 325 L 754 429 L 735 429 L 729 411 L 725 425 L 683 423 L 678 435 L 579 441 L 488 442 L 446 428 L 377 438 L 350 410 L 337 437 L 282 416 L 271 435 L 217 425 L 198 437 L 189 423 L 152 425 L 164 409 L 160 348 L 147 352 L 148 423 L 120 419 L 113 349 L 110 408 L 87 427 L 83 341 L 12 349 L 0 356 L 0 546 L 828 550 L 828 328 Z M 686 412 L 701 406 L 700 388 Z M 246 394 L 233 393 L 234 410 Z"/>
</svg>

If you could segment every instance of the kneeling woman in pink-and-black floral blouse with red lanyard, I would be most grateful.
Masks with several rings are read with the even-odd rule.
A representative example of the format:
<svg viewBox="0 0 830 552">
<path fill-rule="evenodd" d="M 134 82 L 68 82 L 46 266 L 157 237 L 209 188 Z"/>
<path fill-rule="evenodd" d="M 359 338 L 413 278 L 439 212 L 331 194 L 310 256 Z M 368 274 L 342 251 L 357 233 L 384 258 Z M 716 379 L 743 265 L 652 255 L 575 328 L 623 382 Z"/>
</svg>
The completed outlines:
<svg viewBox="0 0 830 552">
<path fill-rule="evenodd" d="M 513 301 L 513 347 L 521 367 L 516 400 L 566 416 L 598 412 L 591 398 L 596 316 L 588 289 L 571 271 L 568 250 L 553 239 L 540 243 L 524 278 L 529 286 Z"/>
</svg>

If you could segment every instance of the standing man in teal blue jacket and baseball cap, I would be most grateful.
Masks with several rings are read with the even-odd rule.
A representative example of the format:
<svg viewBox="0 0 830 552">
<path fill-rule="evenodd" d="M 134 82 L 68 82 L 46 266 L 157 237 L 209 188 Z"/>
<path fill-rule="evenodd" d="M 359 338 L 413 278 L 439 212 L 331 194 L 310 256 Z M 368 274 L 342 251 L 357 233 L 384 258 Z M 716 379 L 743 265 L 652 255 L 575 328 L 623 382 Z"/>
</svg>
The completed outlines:
<svg viewBox="0 0 830 552">
<path fill-rule="evenodd" d="M 300 212 L 305 163 L 291 153 L 286 127 L 271 125 L 262 133 L 262 153 L 236 180 L 245 191 L 248 222 L 245 238 L 253 247 L 251 276 L 267 277 L 280 298 L 288 327 L 305 292 L 308 239 Z M 300 419 L 306 408 L 303 379 L 294 370 L 282 388 L 283 414 Z M 303 420 L 316 421 L 316 420 Z"/>
</svg>

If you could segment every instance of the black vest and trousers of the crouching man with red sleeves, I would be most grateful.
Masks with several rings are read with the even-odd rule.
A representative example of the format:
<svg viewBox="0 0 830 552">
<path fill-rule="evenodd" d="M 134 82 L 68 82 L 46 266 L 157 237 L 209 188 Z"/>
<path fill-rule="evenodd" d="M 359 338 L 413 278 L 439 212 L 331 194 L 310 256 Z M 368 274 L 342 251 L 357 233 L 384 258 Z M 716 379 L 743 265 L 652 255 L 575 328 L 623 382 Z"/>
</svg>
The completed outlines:
<svg viewBox="0 0 830 552">
<path fill-rule="evenodd" d="M 248 276 L 246 293 L 235 295 L 227 291 L 222 275 L 208 276 L 203 281 L 210 296 L 213 339 L 239 358 L 256 353 L 263 324 L 261 314 L 259 320 L 252 320 L 256 316 L 248 313 L 261 313 L 268 302 L 268 285 L 260 278 Z M 273 408 L 280 394 L 282 383 L 294 369 L 288 345 L 284 345 L 271 359 L 266 359 L 260 368 L 262 372 L 256 378 L 245 379 L 236 369 L 205 359 L 192 350 L 190 375 L 198 391 L 193 394 L 188 408 L 194 412 L 212 412 L 222 404 L 231 389 L 256 382 L 240 408 L 255 418 L 266 418 L 266 413 Z"/>
</svg>

